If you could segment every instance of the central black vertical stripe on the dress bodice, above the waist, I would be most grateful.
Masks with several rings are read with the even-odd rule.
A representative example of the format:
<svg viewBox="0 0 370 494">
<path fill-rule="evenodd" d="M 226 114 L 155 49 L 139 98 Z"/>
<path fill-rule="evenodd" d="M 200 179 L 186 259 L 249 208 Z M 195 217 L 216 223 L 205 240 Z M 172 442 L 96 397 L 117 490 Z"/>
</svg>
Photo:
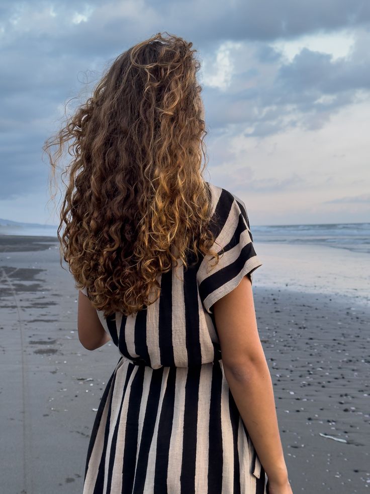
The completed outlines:
<svg viewBox="0 0 370 494">
<path fill-rule="evenodd" d="M 163 366 L 175 365 L 172 346 L 172 270 L 162 273 L 159 297 L 159 350 Z"/>
</svg>

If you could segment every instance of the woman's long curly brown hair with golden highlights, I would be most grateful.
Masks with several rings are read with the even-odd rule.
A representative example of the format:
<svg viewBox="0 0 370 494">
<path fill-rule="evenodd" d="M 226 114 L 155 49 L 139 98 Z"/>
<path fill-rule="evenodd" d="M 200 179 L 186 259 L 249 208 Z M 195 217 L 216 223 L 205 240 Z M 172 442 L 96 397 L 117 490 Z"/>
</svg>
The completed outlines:
<svg viewBox="0 0 370 494">
<path fill-rule="evenodd" d="M 61 258 L 106 317 L 154 303 L 158 276 L 178 259 L 184 269 L 199 253 L 219 260 L 202 177 L 200 62 L 191 42 L 166 34 L 119 55 L 43 146 L 51 183 L 66 145 L 72 157 L 62 173 Z"/>
</svg>

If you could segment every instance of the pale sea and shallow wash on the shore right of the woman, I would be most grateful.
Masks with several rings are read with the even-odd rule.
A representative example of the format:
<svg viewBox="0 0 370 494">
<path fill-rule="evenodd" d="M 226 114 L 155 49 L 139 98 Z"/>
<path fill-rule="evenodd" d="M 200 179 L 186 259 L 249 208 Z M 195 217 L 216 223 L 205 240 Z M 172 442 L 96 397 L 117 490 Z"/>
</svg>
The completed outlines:
<svg viewBox="0 0 370 494">
<path fill-rule="evenodd" d="M 263 263 L 255 286 L 289 288 L 369 305 L 370 224 L 251 226 Z"/>
</svg>

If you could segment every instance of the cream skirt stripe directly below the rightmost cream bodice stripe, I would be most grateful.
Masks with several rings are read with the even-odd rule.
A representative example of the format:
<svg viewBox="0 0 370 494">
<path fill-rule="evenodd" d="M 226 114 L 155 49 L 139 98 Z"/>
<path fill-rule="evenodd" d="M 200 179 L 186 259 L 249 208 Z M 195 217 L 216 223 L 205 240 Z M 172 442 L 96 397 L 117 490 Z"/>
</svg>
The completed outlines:
<svg viewBox="0 0 370 494">
<path fill-rule="evenodd" d="M 208 478 L 205 466 L 208 465 L 209 419 L 211 401 L 211 380 L 213 364 L 203 364 L 199 381 L 199 401 L 197 416 L 197 456 L 195 472 L 196 494 L 204 494 L 208 490 Z"/>
</svg>

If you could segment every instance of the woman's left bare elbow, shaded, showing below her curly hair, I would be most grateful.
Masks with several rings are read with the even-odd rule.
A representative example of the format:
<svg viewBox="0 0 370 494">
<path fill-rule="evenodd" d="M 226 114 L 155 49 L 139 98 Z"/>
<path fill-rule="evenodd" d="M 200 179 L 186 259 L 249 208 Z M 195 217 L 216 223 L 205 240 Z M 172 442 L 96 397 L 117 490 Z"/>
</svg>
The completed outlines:
<svg viewBox="0 0 370 494">
<path fill-rule="evenodd" d="M 97 310 L 80 290 L 78 291 L 77 330 L 80 343 L 87 350 L 95 350 L 111 339 L 99 320 Z"/>
</svg>

